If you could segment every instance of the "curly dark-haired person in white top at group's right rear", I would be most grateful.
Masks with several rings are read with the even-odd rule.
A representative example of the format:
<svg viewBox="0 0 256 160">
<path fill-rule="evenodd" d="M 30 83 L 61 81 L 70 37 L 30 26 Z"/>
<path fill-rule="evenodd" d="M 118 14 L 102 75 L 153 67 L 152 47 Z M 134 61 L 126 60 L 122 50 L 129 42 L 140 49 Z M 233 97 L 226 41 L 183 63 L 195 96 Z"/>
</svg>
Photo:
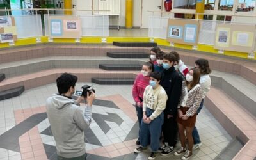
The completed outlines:
<svg viewBox="0 0 256 160">
<path fill-rule="evenodd" d="M 202 90 L 203 90 L 203 99 L 200 104 L 200 107 L 197 110 L 197 114 L 198 114 L 204 106 L 205 95 L 207 95 L 207 93 L 209 92 L 210 87 L 211 87 L 211 77 L 209 75 L 209 74 L 211 74 L 211 69 L 210 69 L 208 60 L 205 60 L 205 59 L 196 60 L 195 68 L 199 68 L 199 70 L 200 70 L 200 75 L 201 75 L 200 76 L 200 85 L 202 86 Z M 201 147 L 202 143 L 201 143 L 198 131 L 196 129 L 196 126 L 193 129 L 193 140 L 194 140 L 193 150 L 196 150 L 199 147 Z"/>
</svg>

